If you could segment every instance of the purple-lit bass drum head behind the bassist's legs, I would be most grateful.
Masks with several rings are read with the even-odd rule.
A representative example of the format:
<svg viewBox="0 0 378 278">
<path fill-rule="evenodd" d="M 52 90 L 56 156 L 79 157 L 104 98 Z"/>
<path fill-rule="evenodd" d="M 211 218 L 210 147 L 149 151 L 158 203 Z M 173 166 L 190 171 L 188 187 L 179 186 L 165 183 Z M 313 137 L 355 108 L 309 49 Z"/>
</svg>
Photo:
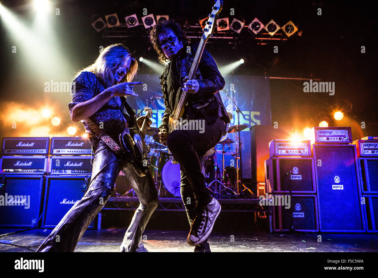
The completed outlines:
<svg viewBox="0 0 378 278">
<path fill-rule="evenodd" d="M 205 169 L 202 165 L 202 174 L 205 176 Z M 164 187 L 167 191 L 176 196 L 181 198 L 180 193 L 180 184 L 181 184 L 181 174 L 180 174 L 180 164 L 173 164 L 172 161 L 169 159 L 165 163 L 163 167 L 163 171 L 161 174 Z"/>
</svg>

